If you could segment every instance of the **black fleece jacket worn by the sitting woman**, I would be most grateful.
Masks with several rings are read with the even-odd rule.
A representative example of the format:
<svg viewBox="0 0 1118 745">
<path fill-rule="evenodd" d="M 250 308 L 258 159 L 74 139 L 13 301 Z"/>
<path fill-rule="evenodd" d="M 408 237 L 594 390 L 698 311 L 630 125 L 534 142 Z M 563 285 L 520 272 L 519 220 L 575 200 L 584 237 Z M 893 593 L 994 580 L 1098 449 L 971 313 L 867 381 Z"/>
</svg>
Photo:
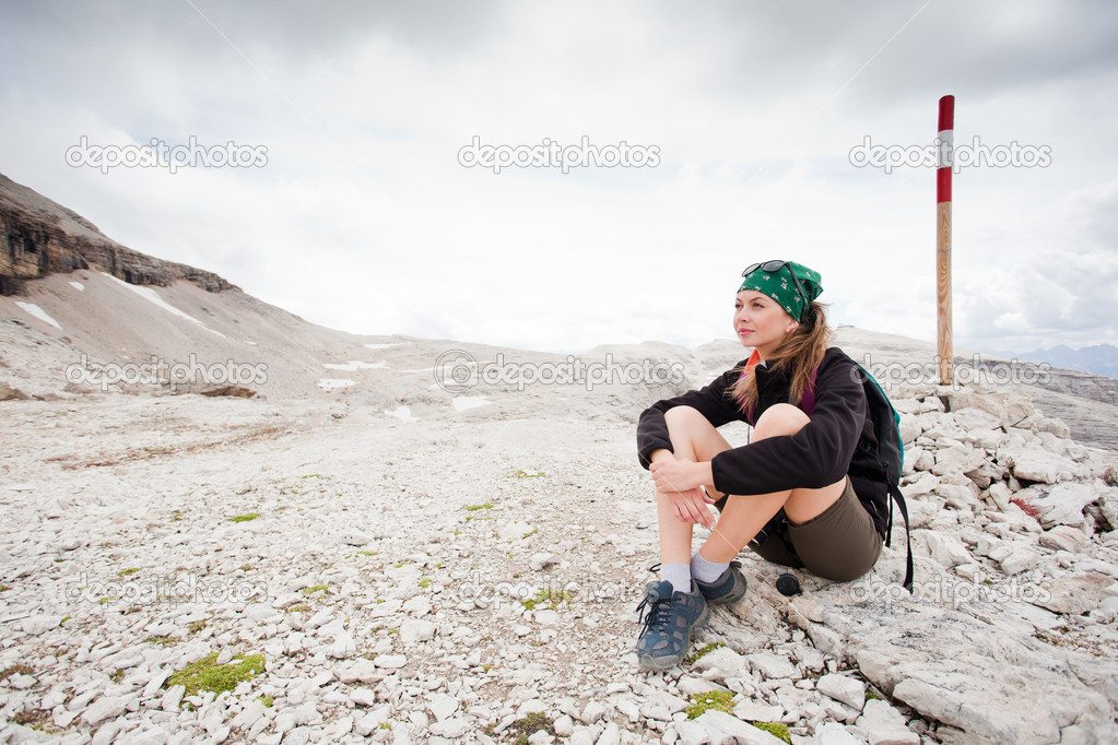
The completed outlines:
<svg viewBox="0 0 1118 745">
<path fill-rule="evenodd" d="M 664 412 L 674 407 L 692 407 L 716 428 L 730 421 L 747 421 L 733 400 L 733 384 L 745 361 L 716 378 L 700 391 L 664 399 L 645 409 L 636 427 L 637 455 L 648 467 L 650 456 L 660 448 L 672 450 Z M 775 403 L 787 403 L 789 379 L 764 365 L 756 367 L 758 402 L 755 417 Z M 722 494 L 769 494 L 786 489 L 817 489 L 850 476 L 854 493 L 873 518 L 878 533 L 885 535 L 889 490 L 877 459 L 865 391 L 858 365 L 846 354 L 831 347 L 815 376 L 815 405 L 811 422 L 792 436 L 770 437 L 720 452 L 711 460 L 714 488 Z"/>
</svg>

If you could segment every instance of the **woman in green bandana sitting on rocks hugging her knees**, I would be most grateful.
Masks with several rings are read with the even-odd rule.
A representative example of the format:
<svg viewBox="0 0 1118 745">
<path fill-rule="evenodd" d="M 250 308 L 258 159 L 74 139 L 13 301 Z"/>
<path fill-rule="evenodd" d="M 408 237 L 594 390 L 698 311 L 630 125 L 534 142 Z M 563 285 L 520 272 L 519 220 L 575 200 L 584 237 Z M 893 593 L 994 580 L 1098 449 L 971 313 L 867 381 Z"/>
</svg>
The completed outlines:
<svg viewBox="0 0 1118 745">
<path fill-rule="evenodd" d="M 700 391 L 657 401 L 637 424 L 660 523 L 661 580 L 646 588 L 637 640 L 648 669 L 684 658 L 708 604 L 745 595 L 730 562 L 747 544 L 768 561 L 845 581 L 874 565 L 885 534 L 888 487 L 862 378 L 827 347 L 818 273 L 766 261 L 742 277 L 733 329 L 754 348 L 749 360 Z M 735 420 L 752 424 L 749 445 L 731 448 L 719 434 Z M 692 554 L 695 523 L 711 533 Z"/>
</svg>

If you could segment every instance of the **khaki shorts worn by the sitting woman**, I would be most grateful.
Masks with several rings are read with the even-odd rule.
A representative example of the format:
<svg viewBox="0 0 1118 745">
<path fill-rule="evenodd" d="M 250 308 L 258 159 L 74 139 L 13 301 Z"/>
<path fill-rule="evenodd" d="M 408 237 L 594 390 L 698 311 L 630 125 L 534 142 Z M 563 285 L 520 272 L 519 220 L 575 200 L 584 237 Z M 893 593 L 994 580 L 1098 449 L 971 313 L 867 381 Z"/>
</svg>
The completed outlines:
<svg viewBox="0 0 1118 745">
<path fill-rule="evenodd" d="M 845 582 L 862 576 L 877 563 L 881 534 L 847 477 L 842 496 L 822 514 L 803 525 L 788 523 L 784 532 L 749 547 L 775 564 Z"/>
</svg>

